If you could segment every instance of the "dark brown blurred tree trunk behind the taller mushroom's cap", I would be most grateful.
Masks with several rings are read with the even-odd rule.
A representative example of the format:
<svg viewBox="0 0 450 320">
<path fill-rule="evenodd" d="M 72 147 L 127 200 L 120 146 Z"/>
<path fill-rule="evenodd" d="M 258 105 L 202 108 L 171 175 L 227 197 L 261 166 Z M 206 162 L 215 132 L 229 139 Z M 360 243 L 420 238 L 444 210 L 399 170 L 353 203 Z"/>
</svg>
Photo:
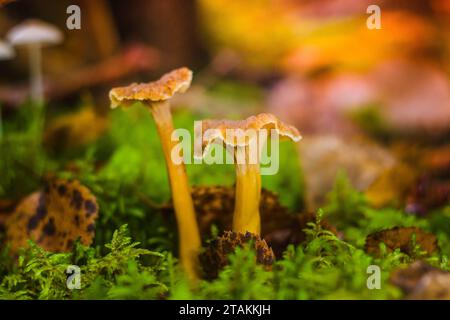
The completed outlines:
<svg viewBox="0 0 450 320">
<path fill-rule="evenodd" d="M 201 63 L 195 0 L 116 0 L 112 4 L 123 39 L 144 41 L 160 50 L 162 69 Z"/>
</svg>

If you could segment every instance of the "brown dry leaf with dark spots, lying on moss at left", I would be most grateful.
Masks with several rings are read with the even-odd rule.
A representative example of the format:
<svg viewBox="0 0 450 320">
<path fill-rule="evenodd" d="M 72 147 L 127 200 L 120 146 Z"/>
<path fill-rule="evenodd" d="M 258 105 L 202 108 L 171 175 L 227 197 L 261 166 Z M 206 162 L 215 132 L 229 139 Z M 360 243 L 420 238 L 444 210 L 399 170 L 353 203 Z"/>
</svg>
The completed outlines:
<svg viewBox="0 0 450 320">
<path fill-rule="evenodd" d="M 72 249 L 80 238 L 90 245 L 98 216 L 96 198 L 78 181 L 51 179 L 43 191 L 23 199 L 6 221 L 6 239 L 11 251 L 17 252 L 35 241 L 52 252 Z"/>
</svg>

